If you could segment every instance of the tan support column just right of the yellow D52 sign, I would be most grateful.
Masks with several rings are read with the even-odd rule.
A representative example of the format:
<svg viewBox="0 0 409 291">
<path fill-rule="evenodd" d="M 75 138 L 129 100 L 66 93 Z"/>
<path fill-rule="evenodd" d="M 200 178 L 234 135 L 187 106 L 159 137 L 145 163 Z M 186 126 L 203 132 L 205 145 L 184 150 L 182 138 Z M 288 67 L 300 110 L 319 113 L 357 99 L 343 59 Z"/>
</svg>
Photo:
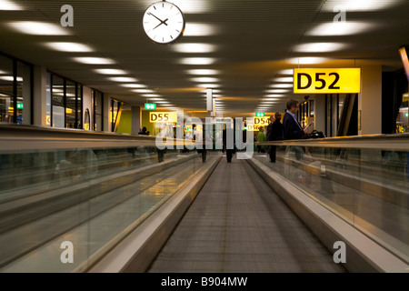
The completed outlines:
<svg viewBox="0 0 409 291">
<path fill-rule="evenodd" d="M 358 95 L 358 135 L 382 134 L 382 66 L 362 68 Z"/>
</svg>

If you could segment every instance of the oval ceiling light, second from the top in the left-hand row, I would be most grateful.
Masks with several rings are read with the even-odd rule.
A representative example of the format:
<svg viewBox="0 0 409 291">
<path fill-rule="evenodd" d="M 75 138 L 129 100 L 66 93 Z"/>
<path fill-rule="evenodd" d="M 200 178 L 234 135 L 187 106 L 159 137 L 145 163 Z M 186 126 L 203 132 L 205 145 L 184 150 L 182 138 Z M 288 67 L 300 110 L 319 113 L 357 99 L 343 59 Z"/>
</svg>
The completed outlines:
<svg viewBox="0 0 409 291">
<path fill-rule="evenodd" d="M 70 35 L 69 30 L 63 26 L 44 22 L 15 21 L 6 25 L 27 35 Z"/>
</svg>

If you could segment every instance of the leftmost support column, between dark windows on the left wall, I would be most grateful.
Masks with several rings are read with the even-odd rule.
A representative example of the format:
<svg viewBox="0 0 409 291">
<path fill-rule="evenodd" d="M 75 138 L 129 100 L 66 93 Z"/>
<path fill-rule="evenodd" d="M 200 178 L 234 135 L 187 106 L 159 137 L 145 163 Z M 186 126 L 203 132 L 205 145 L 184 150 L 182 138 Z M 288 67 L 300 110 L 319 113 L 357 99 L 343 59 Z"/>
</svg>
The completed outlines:
<svg viewBox="0 0 409 291">
<path fill-rule="evenodd" d="M 47 118 L 47 70 L 45 66 L 34 66 L 33 84 L 33 122 L 37 126 L 46 126 Z M 48 93 L 49 94 L 49 93 Z M 28 106 L 27 106 L 28 107 Z"/>
</svg>

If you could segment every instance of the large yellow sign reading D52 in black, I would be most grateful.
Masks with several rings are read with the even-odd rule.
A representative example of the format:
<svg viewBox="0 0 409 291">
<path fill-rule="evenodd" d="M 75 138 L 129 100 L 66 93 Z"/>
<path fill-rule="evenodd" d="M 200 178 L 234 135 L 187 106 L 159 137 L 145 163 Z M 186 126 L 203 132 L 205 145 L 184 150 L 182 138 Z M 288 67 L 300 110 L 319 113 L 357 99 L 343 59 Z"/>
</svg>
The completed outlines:
<svg viewBox="0 0 409 291">
<path fill-rule="evenodd" d="M 294 69 L 294 93 L 361 93 L 361 68 Z"/>
</svg>

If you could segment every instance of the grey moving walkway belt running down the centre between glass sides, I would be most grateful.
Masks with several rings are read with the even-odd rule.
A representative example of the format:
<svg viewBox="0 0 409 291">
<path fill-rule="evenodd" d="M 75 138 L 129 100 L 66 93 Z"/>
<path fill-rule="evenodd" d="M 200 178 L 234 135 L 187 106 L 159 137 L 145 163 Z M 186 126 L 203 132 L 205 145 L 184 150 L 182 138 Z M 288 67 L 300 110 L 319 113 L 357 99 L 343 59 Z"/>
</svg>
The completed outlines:
<svg viewBox="0 0 409 291">
<path fill-rule="evenodd" d="M 148 272 L 346 272 L 244 160 L 225 157 Z"/>
</svg>

